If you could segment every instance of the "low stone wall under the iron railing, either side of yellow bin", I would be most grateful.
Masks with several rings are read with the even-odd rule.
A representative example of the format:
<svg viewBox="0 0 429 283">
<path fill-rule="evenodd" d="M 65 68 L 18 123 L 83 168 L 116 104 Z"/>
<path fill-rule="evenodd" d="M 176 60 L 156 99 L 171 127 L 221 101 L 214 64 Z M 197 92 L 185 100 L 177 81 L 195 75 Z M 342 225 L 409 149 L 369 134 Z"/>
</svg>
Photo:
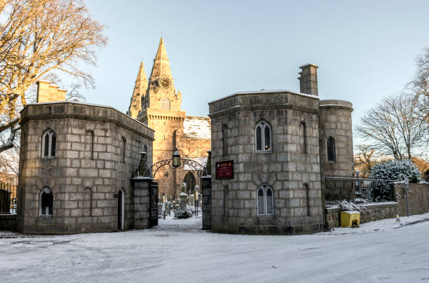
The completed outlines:
<svg viewBox="0 0 429 283">
<path fill-rule="evenodd" d="M 381 219 L 395 218 L 398 213 L 399 205 L 397 202 L 372 202 L 362 205 L 362 209 L 355 209 L 360 212 L 360 223 L 377 221 Z M 325 221 L 327 229 L 341 226 L 341 208 L 337 206 L 327 207 L 325 209 Z"/>
</svg>

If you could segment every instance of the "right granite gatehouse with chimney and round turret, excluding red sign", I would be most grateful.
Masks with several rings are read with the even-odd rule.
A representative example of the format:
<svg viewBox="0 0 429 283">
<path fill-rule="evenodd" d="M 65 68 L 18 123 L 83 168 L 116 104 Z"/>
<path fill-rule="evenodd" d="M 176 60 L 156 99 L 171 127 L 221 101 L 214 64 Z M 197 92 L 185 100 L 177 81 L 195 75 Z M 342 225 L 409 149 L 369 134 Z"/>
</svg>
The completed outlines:
<svg viewBox="0 0 429 283">
<path fill-rule="evenodd" d="M 299 234 L 322 230 L 322 172 L 353 173 L 352 104 L 320 100 L 317 66 L 300 92 L 236 92 L 209 103 L 212 161 L 233 161 L 233 178 L 212 174 L 212 230 Z"/>
</svg>

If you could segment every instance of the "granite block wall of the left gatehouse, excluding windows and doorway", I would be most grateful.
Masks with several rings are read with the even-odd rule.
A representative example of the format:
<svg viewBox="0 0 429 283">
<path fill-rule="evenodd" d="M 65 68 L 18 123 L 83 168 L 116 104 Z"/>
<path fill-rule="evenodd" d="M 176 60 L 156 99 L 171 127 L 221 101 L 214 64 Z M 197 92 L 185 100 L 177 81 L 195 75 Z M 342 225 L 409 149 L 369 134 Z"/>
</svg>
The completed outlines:
<svg viewBox="0 0 429 283">
<path fill-rule="evenodd" d="M 82 233 L 118 229 L 118 192 L 124 223 L 133 225 L 131 177 L 154 130 L 109 106 L 79 102 L 29 104 L 21 112 L 18 230 Z M 41 136 L 55 131 L 56 153 L 41 158 Z M 125 146 L 125 149 L 124 149 Z M 39 216 L 39 193 L 53 191 L 53 216 Z"/>
</svg>

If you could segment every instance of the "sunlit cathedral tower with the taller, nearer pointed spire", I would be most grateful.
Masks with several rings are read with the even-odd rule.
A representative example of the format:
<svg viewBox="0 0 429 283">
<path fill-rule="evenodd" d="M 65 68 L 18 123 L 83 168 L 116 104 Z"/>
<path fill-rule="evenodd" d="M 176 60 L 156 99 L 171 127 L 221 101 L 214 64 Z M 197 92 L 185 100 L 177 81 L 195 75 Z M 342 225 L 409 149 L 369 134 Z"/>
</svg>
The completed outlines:
<svg viewBox="0 0 429 283">
<path fill-rule="evenodd" d="M 158 51 L 154 59 L 149 85 L 146 95 L 142 99 L 141 111 L 138 120 L 152 129 L 155 129 L 154 163 L 171 158 L 172 153 L 180 148 L 180 139 L 183 135 L 183 123 L 186 113 L 181 111 L 182 94 L 175 90 L 174 79 L 171 74 L 170 61 L 163 38 L 159 42 Z M 162 167 L 156 173 L 156 181 L 160 193 L 168 198 L 177 194 L 182 181 L 178 179 L 177 170 Z"/>
</svg>

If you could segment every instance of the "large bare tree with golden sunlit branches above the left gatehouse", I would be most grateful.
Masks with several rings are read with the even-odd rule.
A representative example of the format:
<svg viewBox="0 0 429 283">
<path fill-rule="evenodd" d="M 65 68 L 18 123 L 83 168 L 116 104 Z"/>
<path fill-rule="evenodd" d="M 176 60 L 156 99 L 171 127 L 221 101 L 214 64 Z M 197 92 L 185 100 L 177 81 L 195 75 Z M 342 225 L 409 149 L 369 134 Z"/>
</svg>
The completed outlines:
<svg viewBox="0 0 429 283">
<path fill-rule="evenodd" d="M 103 25 L 78 0 L 0 0 L 0 152 L 13 147 L 26 92 L 59 71 L 93 85 L 81 63 L 95 65 L 107 43 Z"/>
</svg>

